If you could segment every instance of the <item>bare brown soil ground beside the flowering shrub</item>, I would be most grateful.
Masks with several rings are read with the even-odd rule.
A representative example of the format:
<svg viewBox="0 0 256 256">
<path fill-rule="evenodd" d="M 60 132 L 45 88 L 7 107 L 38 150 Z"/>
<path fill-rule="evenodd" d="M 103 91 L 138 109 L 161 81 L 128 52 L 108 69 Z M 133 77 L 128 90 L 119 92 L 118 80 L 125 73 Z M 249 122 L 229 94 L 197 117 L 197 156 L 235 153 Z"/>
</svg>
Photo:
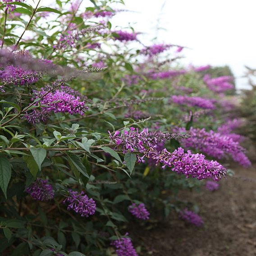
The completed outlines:
<svg viewBox="0 0 256 256">
<path fill-rule="evenodd" d="M 175 215 L 151 230 L 132 228 L 134 243 L 142 245 L 140 255 L 256 256 L 256 164 L 231 169 L 234 177 L 222 180 L 219 190 L 187 192 L 200 206 L 203 228 Z"/>
</svg>

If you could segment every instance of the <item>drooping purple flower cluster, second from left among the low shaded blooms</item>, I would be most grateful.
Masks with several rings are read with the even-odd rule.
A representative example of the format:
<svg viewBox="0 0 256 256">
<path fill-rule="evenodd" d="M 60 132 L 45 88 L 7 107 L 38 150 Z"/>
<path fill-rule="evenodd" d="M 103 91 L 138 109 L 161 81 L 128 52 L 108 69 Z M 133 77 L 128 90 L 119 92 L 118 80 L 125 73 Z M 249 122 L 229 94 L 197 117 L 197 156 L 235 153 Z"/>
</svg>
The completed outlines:
<svg viewBox="0 0 256 256">
<path fill-rule="evenodd" d="M 65 198 L 63 203 L 68 202 L 68 210 L 74 210 L 76 213 L 79 213 L 82 217 L 89 215 L 94 215 L 96 211 L 96 203 L 92 198 L 89 198 L 82 191 L 78 194 L 77 191 L 72 191 L 69 189 L 69 195 Z"/>
</svg>

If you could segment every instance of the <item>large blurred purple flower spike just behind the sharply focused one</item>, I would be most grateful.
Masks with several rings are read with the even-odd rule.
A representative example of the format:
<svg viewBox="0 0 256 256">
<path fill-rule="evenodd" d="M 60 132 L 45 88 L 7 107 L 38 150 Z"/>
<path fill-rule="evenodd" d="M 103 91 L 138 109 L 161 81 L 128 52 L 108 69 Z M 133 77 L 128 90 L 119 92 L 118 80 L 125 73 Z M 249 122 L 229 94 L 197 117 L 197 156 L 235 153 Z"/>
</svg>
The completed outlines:
<svg viewBox="0 0 256 256">
<path fill-rule="evenodd" d="M 178 132 L 185 132 L 185 130 L 180 128 Z M 191 135 L 190 138 L 181 140 L 183 147 L 194 148 L 217 159 L 231 155 L 233 160 L 240 165 L 245 167 L 251 165 L 250 160 L 244 154 L 245 149 L 238 142 L 233 141 L 229 135 L 215 133 L 212 130 L 206 132 L 204 128 L 190 128 L 189 134 Z"/>
</svg>

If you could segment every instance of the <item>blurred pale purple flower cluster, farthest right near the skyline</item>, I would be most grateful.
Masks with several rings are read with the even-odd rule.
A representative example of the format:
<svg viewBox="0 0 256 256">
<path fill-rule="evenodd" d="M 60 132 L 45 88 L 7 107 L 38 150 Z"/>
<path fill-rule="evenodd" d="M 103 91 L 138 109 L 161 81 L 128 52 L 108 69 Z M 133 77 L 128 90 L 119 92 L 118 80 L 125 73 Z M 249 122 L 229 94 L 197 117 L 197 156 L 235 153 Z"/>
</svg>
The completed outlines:
<svg viewBox="0 0 256 256">
<path fill-rule="evenodd" d="M 204 82 L 209 87 L 211 91 L 223 92 L 232 90 L 234 85 L 231 83 L 233 81 L 231 76 L 222 76 L 218 78 L 211 78 L 209 74 L 204 76 Z"/>
</svg>

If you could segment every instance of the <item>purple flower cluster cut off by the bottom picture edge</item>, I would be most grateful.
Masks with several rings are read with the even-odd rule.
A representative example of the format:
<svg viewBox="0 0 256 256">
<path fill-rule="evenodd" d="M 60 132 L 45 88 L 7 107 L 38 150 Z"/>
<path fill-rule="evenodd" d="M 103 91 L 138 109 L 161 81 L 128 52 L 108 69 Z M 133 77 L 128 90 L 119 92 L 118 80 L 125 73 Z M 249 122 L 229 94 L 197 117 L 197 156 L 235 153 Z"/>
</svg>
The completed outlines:
<svg viewBox="0 0 256 256">
<path fill-rule="evenodd" d="M 128 233 L 125 234 L 126 236 Z M 118 256 L 138 256 L 130 238 L 120 238 L 110 243 Z"/>
</svg>

